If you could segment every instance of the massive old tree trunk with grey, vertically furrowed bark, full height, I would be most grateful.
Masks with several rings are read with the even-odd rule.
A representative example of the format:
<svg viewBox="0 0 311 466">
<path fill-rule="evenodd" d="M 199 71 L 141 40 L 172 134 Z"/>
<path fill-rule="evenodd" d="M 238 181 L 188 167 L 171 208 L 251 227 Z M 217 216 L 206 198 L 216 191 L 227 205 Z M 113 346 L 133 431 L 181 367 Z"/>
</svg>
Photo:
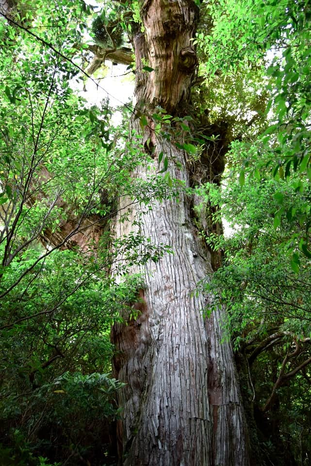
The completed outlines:
<svg viewBox="0 0 311 466">
<path fill-rule="evenodd" d="M 171 178 L 187 187 L 186 153 L 153 133 L 150 115 L 157 105 L 174 115 L 186 114 L 197 65 L 191 38 L 198 11 L 192 1 L 146 0 L 142 17 L 145 32 L 133 36 L 136 67 L 147 59 L 154 69 L 136 74 L 137 108 L 149 122 L 143 142 L 150 138 L 153 144 L 155 170 L 163 152 Z M 132 124 L 139 130 L 137 121 Z M 147 168 L 134 176 L 147 179 Z M 116 324 L 112 332 L 119 351 L 115 375 L 127 383 L 120 393 L 118 423 L 120 462 L 126 466 L 249 465 L 232 349 L 221 342 L 223 310 L 204 319 L 213 297 L 194 293 L 212 267 L 190 202 L 183 191 L 179 200 L 155 201 L 143 214 L 140 233 L 155 244 L 172 246 L 174 254 L 146 264 L 136 306 L 140 315 L 128 325 Z M 139 214 L 132 211 L 127 221 L 117 221 L 116 235 L 129 233 Z"/>
</svg>

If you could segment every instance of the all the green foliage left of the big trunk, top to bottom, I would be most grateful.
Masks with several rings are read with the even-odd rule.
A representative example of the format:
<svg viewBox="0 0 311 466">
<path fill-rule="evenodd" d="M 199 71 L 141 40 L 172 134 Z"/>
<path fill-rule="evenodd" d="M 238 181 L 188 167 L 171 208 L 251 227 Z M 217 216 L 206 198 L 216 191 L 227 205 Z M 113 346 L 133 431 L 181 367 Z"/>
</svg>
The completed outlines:
<svg viewBox="0 0 311 466">
<path fill-rule="evenodd" d="M 142 147 L 111 127 L 107 101 L 89 108 L 71 88 L 90 14 L 83 1 L 35 11 L 25 2 L 41 41 L 0 19 L 1 466 L 108 458 L 122 386 L 111 378 L 110 327 L 123 310 L 137 317 L 142 280 L 128 268 L 168 250 L 135 225 L 118 240 L 110 233 L 119 196 L 147 209 L 177 191 L 151 172 L 133 182 L 148 163 Z"/>
</svg>

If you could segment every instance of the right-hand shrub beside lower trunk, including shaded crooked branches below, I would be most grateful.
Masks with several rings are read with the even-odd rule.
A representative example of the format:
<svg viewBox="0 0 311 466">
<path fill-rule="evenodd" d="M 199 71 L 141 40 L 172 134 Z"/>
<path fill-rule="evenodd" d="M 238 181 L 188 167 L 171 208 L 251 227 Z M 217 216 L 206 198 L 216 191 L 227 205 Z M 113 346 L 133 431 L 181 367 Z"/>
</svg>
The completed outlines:
<svg viewBox="0 0 311 466">
<path fill-rule="evenodd" d="M 301 458 L 300 464 L 307 465 L 311 264 L 298 251 L 290 262 L 288 250 L 303 228 L 293 221 L 301 207 L 296 186 L 307 189 L 308 181 L 298 176 L 276 181 L 266 170 L 260 180 L 246 175 L 241 185 L 240 166 L 246 157 L 249 164 L 256 160 L 254 145 L 232 144 L 223 186 L 200 189 L 214 207 L 214 221 L 222 216 L 231 228 L 226 237 L 205 236 L 211 249 L 223 256 L 205 289 L 215 296 L 214 306 L 226 306 L 227 335 L 247 358 L 245 390 L 249 403 L 254 401 L 265 461 L 286 465 Z M 280 205 L 293 216 L 276 222 Z"/>
</svg>

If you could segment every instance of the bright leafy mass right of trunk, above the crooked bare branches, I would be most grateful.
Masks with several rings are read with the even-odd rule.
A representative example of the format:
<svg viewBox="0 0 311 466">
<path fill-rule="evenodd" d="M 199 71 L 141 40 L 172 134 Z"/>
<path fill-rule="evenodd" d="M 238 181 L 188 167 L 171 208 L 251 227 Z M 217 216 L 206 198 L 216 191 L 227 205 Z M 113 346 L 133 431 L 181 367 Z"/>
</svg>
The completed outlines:
<svg viewBox="0 0 311 466">
<path fill-rule="evenodd" d="M 274 216 L 280 202 L 299 208 L 295 181 L 280 185 L 266 178 L 257 183 L 248 176 L 241 187 L 236 174 L 227 179 L 222 192 L 212 185 L 207 191 L 233 228 L 228 238 L 207 238 L 213 249 L 224 251 L 224 266 L 215 272 L 213 286 L 217 284 L 221 290 L 217 295 L 229 308 L 230 331 L 238 335 L 253 327 L 258 332 L 260 324 L 265 333 L 270 326 L 281 325 L 282 330 L 311 336 L 310 261 L 297 258 L 297 270 L 287 257 L 288 243 L 299 234 L 300 225 L 285 219 L 276 228 Z"/>
</svg>

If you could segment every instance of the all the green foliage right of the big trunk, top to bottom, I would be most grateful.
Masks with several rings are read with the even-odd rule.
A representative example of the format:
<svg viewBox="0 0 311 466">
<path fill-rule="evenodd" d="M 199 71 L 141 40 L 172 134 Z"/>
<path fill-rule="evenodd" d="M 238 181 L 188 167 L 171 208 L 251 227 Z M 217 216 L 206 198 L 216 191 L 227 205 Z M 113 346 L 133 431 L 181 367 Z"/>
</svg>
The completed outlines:
<svg viewBox="0 0 311 466">
<path fill-rule="evenodd" d="M 234 115 L 236 136 L 222 186 L 198 188 L 214 222 L 224 218 L 231 228 L 229 237 L 202 232 L 222 255 L 222 266 L 205 286 L 215 305 L 229 311 L 224 325 L 234 338 L 244 394 L 253 406 L 262 464 L 307 465 L 310 2 L 225 0 L 202 8 L 209 26 L 196 43 L 207 58 L 201 73 L 213 94 L 209 114 L 217 116 L 225 107 L 225 115 Z M 242 93 L 236 92 L 239 86 Z M 249 106 L 251 95 L 258 105 Z M 244 111 L 242 131 L 236 131 Z"/>
</svg>

